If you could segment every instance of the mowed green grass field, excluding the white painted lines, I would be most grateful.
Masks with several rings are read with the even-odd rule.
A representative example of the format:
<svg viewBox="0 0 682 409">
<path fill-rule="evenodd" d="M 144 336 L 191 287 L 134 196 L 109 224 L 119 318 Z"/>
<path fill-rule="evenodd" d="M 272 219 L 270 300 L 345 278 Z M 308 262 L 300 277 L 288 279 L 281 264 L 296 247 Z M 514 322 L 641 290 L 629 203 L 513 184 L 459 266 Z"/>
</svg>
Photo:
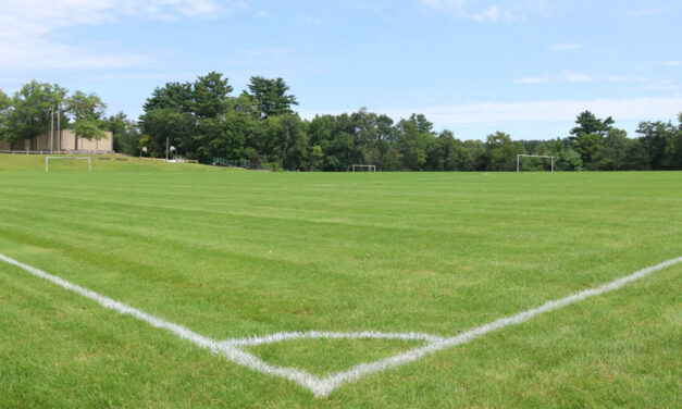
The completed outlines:
<svg viewBox="0 0 682 409">
<path fill-rule="evenodd" d="M 682 256 L 680 172 L 44 163 L 0 156 L 0 253 L 214 339 L 451 336 Z M 315 398 L 0 262 L 0 408 L 681 407 L 681 278 L 677 264 Z M 416 345 L 250 351 L 324 374 Z"/>
</svg>

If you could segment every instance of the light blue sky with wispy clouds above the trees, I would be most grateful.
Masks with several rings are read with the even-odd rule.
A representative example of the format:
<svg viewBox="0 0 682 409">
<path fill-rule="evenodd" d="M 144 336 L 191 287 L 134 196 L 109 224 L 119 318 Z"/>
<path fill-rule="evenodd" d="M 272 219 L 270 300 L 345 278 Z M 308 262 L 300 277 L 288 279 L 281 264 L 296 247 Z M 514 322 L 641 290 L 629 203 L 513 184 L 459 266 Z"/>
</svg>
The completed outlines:
<svg viewBox="0 0 682 409">
<path fill-rule="evenodd" d="M 590 109 L 630 136 L 682 111 L 682 2 L 0 0 L 0 88 L 30 79 L 141 113 L 152 89 L 284 77 L 303 117 L 424 113 L 462 139 L 566 136 Z"/>
</svg>

